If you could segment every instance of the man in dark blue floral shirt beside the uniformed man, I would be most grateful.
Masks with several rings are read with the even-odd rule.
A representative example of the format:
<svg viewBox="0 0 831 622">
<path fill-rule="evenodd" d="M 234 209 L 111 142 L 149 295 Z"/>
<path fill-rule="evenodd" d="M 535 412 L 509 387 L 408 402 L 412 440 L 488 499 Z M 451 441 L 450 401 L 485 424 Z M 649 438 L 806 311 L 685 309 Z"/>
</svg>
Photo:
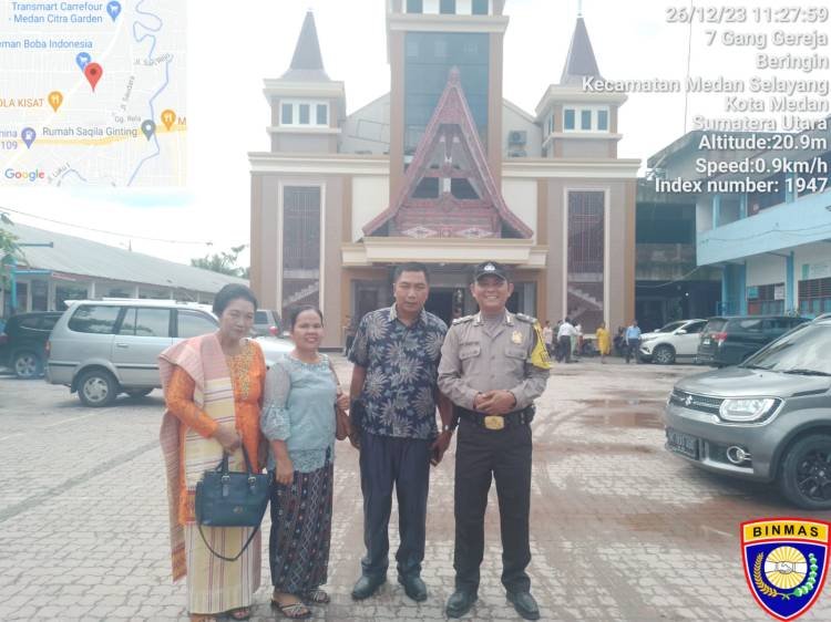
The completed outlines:
<svg viewBox="0 0 831 622">
<path fill-rule="evenodd" d="M 421 580 L 427 529 L 430 463 L 438 464 L 452 436 L 452 406 L 440 394 L 438 365 L 447 324 L 424 310 L 430 293 L 422 263 L 396 268 L 392 307 L 361 320 L 349 360 L 355 363 L 351 413 L 360 415 L 363 494 L 361 577 L 352 598 L 372 595 L 387 580 L 392 489 L 398 495 L 398 581 L 416 601 L 427 599 Z M 435 426 L 439 407 L 442 431 Z M 353 418 L 355 422 L 355 418 Z"/>
</svg>

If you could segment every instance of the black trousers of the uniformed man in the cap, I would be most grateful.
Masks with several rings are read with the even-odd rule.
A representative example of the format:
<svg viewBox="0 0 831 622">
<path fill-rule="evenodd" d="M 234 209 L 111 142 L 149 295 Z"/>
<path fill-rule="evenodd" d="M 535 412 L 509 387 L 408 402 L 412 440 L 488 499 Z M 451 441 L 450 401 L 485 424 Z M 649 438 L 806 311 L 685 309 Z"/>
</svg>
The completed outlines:
<svg viewBox="0 0 831 622">
<path fill-rule="evenodd" d="M 526 592 L 531 561 L 531 427 L 490 431 L 461 421 L 455 450 L 455 587 L 476 593 L 484 553 L 484 515 L 496 480 L 502 535 L 502 584 Z"/>
</svg>

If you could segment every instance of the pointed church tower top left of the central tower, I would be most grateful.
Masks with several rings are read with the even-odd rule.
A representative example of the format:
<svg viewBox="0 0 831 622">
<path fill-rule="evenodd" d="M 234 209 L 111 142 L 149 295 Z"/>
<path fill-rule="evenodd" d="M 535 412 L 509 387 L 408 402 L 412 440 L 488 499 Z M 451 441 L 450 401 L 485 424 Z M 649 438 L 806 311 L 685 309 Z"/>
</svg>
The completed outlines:
<svg viewBox="0 0 831 622">
<path fill-rule="evenodd" d="M 291 65 L 264 90 L 271 106 L 271 152 L 337 153 L 340 122 L 346 116 L 342 82 L 324 69 L 315 15 L 309 11 L 300 29 Z"/>
</svg>

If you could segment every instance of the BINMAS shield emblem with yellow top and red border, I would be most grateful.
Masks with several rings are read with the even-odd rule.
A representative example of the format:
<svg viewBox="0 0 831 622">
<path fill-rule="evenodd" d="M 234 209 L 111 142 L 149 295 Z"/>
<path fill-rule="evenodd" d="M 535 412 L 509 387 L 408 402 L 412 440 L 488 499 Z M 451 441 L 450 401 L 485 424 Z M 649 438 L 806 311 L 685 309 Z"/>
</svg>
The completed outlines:
<svg viewBox="0 0 831 622">
<path fill-rule="evenodd" d="M 825 584 L 830 527 L 800 518 L 741 523 L 747 584 L 759 607 L 777 620 L 796 620 L 817 601 Z"/>
</svg>

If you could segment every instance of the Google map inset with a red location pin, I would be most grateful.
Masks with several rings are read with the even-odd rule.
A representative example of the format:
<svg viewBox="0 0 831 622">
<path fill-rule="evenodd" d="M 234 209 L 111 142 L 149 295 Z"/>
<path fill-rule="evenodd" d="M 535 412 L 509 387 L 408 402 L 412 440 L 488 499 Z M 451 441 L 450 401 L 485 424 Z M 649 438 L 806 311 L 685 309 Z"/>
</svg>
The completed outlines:
<svg viewBox="0 0 831 622">
<path fill-rule="evenodd" d="M 0 185 L 184 185 L 185 4 L 0 0 Z"/>
</svg>

